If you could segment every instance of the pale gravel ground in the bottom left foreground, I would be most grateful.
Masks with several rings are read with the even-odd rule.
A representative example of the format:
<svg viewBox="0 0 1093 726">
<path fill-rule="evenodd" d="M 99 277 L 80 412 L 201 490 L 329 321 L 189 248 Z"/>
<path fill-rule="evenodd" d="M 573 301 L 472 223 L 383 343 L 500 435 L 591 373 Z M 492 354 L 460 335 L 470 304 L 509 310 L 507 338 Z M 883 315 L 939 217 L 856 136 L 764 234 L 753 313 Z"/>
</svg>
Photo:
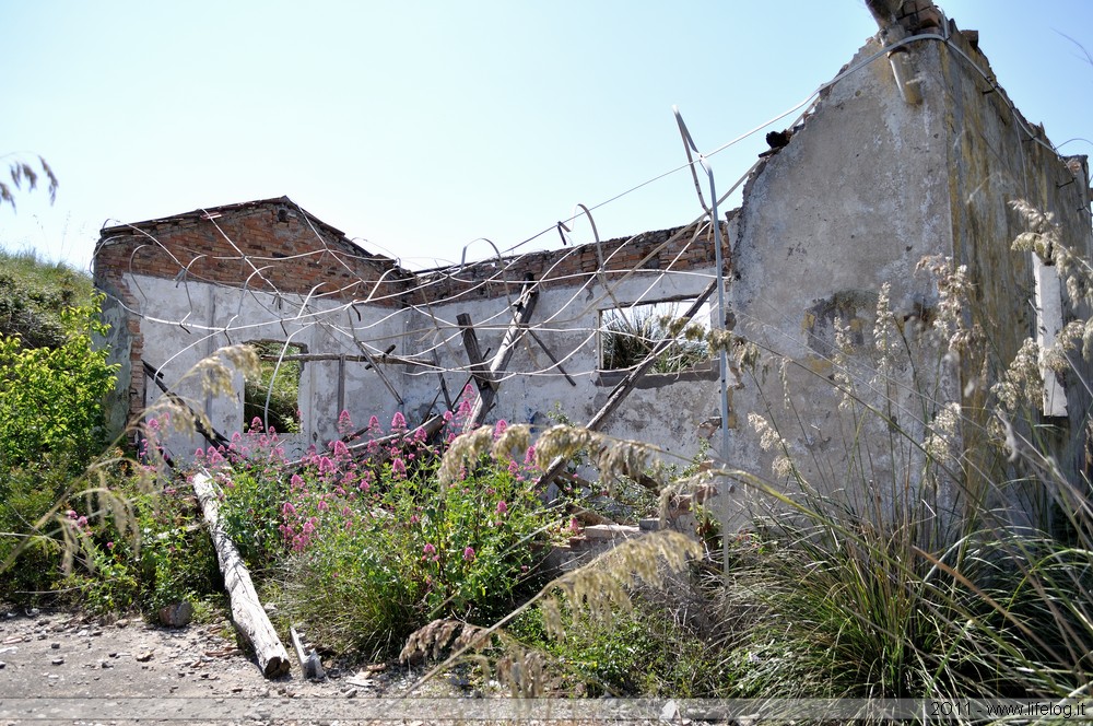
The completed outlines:
<svg viewBox="0 0 1093 726">
<path fill-rule="evenodd" d="M 167 629 L 140 619 L 108 623 L 71 612 L 0 611 L 0 726 L 603 721 L 589 717 L 588 709 L 599 707 L 595 701 L 540 701 L 528 712 L 517 701 L 481 698 L 457 678 L 413 689 L 422 672 L 363 664 L 328 667 L 325 680 L 310 681 L 294 663 L 290 676 L 267 680 L 237 647 L 226 620 Z"/>
</svg>

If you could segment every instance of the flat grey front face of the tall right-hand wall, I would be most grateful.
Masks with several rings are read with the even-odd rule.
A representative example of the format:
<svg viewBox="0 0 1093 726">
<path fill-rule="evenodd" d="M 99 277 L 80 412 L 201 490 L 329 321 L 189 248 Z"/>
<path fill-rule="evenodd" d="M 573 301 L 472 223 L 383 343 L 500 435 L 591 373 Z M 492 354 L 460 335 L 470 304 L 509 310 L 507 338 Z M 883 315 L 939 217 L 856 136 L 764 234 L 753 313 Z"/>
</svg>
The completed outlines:
<svg viewBox="0 0 1093 726">
<path fill-rule="evenodd" d="M 868 44 L 851 66 L 878 49 Z M 890 434 L 902 426 L 920 435 L 921 407 L 912 388 L 936 382 L 914 382 L 903 365 L 890 372 L 891 385 L 874 384 L 873 362 L 861 359 L 874 348 L 882 284 L 891 285 L 898 319 L 914 320 L 936 304 L 931 280 L 916 274 L 916 266 L 951 249 L 940 79 L 928 58 L 918 61 L 922 104 L 904 101 L 882 57 L 830 87 L 744 191 L 730 288 L 736 331 L 762 349 L 764 365 L 791 364 L 785 382 L 772 375 L 764 384 L 760 373 L 736 391 L 736 466 L 771 476 L 776 453 L 761 450 L 748 424 L 751 412 L 774 421 L 818 489 L 886 488 L 912 466 L 912 452 L 891 448 Z M 836 341 L 839 324 L 848 328 L 850 350 Z M 850 382 L 841 384 L 839 376 Z M 889 420 L 855 420 L 841 410 L 847 385 Z"/>
</svg>

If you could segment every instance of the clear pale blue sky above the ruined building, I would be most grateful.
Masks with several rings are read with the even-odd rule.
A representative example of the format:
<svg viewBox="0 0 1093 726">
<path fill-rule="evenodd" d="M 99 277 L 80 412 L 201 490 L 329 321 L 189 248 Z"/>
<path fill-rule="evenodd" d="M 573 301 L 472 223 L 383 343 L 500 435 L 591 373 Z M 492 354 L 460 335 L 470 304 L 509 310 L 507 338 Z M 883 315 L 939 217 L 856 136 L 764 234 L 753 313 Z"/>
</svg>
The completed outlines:
<svg viewBox="0 0 1093 726">
<path fill-rule="evenodd" d="M 1093 139 L 1093 66 L 1060 35 L 1093 52 L 1093 1 L 939 4 L 1055 143 Z M 39 191 L 0 209 L 0 245 L 86 268 L 104 223 L 287 195 L 414 267 L 477 237 L 507 249 L 685 161 L 673 104 L 715 149 L 875 30 L 862 0 L 0 0 L 0 154 L 60 178 L 52 207 Z M 713 159 L 720 187 L 763 136 Z M 680 172 L 595 214 L 608 238 L 700 211 Z"/>
</svg>

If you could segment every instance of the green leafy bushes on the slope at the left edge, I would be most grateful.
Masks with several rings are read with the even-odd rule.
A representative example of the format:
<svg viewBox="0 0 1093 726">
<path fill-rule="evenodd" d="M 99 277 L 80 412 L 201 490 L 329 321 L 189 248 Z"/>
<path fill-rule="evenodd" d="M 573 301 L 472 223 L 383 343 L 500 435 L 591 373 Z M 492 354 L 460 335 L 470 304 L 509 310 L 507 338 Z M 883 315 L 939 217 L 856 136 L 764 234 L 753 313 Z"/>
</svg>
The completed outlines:
<svg viewBox="0 0 1093 726">
<path fill-rule="evenodd" d="M 90 280 L 63 266 L 0 255 L 0 577 L 13 593 L 59 576 L 66 530 L 54 515 L 105 448 L 115 367 L 93 343 L 104 331 L 98 302 Z"/>
</svg>

